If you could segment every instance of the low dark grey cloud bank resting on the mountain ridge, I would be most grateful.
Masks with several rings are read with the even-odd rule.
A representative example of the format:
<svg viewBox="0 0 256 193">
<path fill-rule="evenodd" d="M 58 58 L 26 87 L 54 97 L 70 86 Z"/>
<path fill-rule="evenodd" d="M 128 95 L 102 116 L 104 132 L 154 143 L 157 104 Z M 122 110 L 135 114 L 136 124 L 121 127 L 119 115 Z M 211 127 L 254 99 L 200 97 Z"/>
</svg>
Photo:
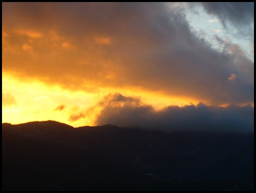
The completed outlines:
<svg viewBox="0 0 256 193">
<path fill-rule="evenodd" d="M 167 106 L 155 110 L 138 98 L 120 94 L 106 96 L 99 104 L 101 112 L 95 124 L 141 127 L 165 131 L 193 130 L 217 132 L 253 132 L 254 107 L 208 106 L 202 102 L 183 107 Z"/>
</svg>

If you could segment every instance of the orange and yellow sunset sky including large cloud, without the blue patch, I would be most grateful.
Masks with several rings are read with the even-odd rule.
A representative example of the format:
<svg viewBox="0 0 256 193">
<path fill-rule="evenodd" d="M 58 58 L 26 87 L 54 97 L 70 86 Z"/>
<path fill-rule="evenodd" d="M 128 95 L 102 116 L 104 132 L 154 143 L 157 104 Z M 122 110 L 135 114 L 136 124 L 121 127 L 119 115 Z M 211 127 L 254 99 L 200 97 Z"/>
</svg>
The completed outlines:
<svg viewBox="0 0 256 193">
<path fill-rule="evenodd" d="M 94 125 L 109 93 L 156 110 L 254 104 L 254 62 L 243 49 L 231 41 L 213 49 L 166 4 L 2 3 L 2 11 L 3 122 Z"/>
</svg>

